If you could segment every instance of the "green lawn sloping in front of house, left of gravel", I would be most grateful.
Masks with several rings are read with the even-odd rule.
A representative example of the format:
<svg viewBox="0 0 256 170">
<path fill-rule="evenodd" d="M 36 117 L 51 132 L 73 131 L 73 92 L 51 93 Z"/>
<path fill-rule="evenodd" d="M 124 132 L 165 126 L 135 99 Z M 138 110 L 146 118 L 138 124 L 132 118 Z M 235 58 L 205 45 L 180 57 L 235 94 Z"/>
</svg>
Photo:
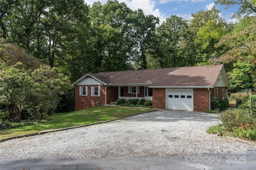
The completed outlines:
<svg viewBox="0 0 256 170">
<path fill-rule="evenodd" d="M 29 133 L 35 133 L 39 131 L 78 126 L 99 121 L 107 121 L 120 117 L 136 115 L 138 113 L 144 113 L 146 111 L 152 110 L 154 109 L 118 106 L 99 106 L 91 107 L 88 109 L 82 109 L 78 111 L 72 111 L 69 113 L 58 113 L 55 114 L 54 120 L 51 121 L 47 121 L 44 123 L 36 123 L 34 125 L 14 129 L 1 130 L 0 139 L 14 137 L 18 135 L 26 135 Z"/>
</svg>

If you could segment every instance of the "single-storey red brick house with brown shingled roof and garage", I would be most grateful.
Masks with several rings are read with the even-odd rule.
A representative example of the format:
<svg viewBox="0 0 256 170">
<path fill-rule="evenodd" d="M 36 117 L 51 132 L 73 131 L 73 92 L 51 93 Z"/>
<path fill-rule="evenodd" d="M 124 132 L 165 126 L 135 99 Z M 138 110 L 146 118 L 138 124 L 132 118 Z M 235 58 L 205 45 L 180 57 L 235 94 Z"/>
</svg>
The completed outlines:
<svg viewBox="0 0 256 170">
<path fill-rule="evenodd" d="M 123 99 L 152 100 L 155 109 L 206 111 L 228 100 L 230 84 L 223 64 L 152 70 L 88 73 L 75 86 L 75 110 Z"/>
</svg>

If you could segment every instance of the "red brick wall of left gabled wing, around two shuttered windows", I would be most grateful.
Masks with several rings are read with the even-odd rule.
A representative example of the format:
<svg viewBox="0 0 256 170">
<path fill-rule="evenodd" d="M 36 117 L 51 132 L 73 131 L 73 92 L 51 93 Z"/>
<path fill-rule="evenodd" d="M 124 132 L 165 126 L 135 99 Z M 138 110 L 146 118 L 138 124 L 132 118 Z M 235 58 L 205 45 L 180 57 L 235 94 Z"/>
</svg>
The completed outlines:
<svg viewBox="0 0 256 170">
<path fill-rule="evenodd" d="M 88 96 L 79 96 L 79 86 L 75 86 L 75 110 L 85 109 L 89 107 L 95 107 L 95 103 L 98 101 L 100 106 L 105 105 L 105 87 L 100 86 L 100 96 L 91 96 L 91 85 L 84 85 L 88 87 Z"/>
</svg>

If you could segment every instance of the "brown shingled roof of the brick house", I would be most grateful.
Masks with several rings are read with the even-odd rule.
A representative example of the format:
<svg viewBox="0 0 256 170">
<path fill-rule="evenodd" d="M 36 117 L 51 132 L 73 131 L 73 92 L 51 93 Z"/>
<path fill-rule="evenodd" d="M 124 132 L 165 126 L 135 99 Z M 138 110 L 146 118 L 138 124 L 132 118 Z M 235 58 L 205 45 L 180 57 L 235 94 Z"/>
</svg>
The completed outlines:
<svg viewBox="0 0 256 170">
<path fill-rule="evenodd" d="M 223 64 L 220 64 L 213 66 L 190 66 L 176 68 L 159 68 L 151 70 L 99 72 L 97 74 L 87 75 L 90 75 L 106 84 L 112 85 L 149 84 L 149 86 L 152 87 L 213 87 L 217 79 L 220 78 L 220 72 L 223 72 L 223 70 L 224 66 Z M 225 70 L 224 75 L 226 76 Z M 227 78 L 225 79 L 227 80 Z"/>
</svg>

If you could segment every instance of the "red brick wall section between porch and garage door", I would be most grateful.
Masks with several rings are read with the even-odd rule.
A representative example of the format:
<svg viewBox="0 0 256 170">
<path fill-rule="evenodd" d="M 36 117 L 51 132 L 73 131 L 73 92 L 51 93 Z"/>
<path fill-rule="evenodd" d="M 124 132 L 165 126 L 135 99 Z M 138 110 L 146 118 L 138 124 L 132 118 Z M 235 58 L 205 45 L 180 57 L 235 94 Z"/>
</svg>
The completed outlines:
<svg viewBox="0 0 256 170">
<path fill-rule="evenodd" d="M 166 109 L 165 107 L 165 88 L 153 88 L 153 108 Z"/>
</svg>

